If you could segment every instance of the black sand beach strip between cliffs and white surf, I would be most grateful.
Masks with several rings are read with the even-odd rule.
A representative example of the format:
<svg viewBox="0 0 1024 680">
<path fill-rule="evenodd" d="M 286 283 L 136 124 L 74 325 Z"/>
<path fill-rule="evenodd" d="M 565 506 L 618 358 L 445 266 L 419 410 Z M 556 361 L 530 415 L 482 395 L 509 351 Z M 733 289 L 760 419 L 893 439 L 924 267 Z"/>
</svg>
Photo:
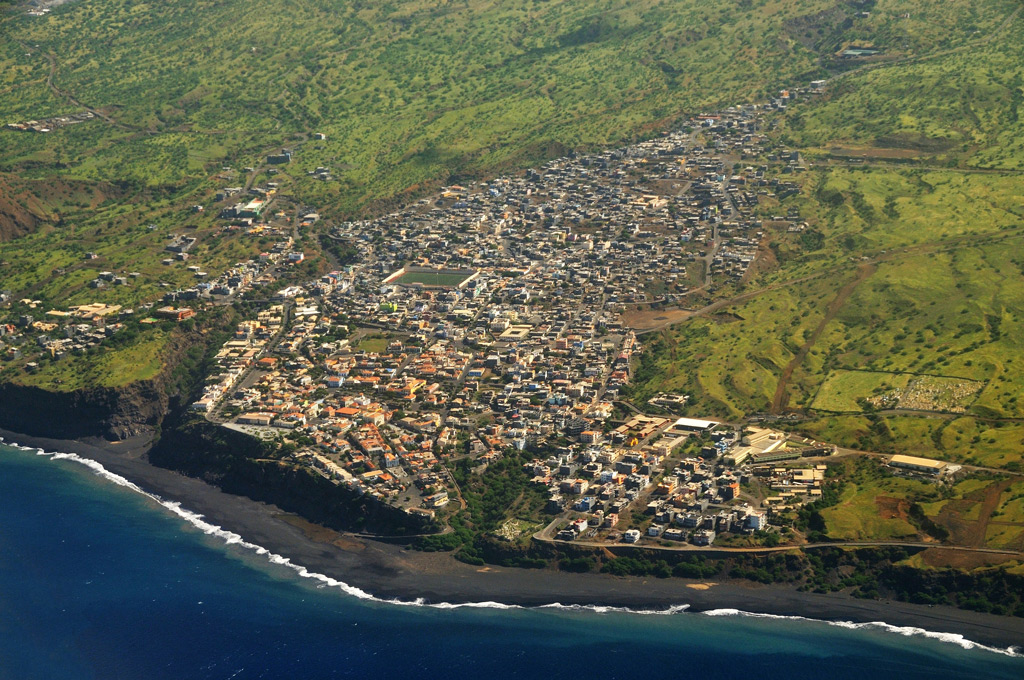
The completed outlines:
<svg viewBox="0 0 1024 680">
<path fill-rule="evenodd" d="M 450 553 L 422 553 L 361 536 L 340 534 L 308 524 L 275 506 L 232 496 L 191 477 L 151 465 L 151 437 L 121 442 L 102 439 L 53 439 L 0 429 L 5 443 L 77 454 L 93 460 L 143 491 L 225 530 L 242 536 L 311 572 L 335 579 L 376 598 L 425 603 L 497 602 L 536 607 L 559 603 L 666 610 L 688 605 L 688 611 L 736 609 L 755 614 L 802 617 L 822 622 L 885 623 L 963 636 L 1005 650 L 1024 647 L 1024 619 L 999 617 L 898 601 L 860 600 L 840 593 L 798 592 L 783 585 L 746 581 L 703 583 L 684 579 L 618 578 L 567 573 L 554 569 L 477 567 Z M 934 636 L 933 636 L 934 637 Z"/>
</svg>

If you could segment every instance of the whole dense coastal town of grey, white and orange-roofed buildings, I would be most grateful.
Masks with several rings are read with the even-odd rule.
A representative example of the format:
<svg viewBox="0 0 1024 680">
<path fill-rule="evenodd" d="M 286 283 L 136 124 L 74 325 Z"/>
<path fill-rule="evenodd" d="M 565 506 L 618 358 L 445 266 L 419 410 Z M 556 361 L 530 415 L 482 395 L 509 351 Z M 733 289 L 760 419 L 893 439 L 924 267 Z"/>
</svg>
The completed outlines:
<svg viewBox="0 0 1024 680">
<path fill-rule="evenodd" d="M 642 344 L 624 316 L 739 282 L 767 228 L 804 228 L 758 210 L 804 169 L 761 131 L 790 97 L 335 225 L 354 263 L 240 324 L 191 408 L 413 514 L 458 500 L 454 463 L 517 451 L 537 454 L 526 472 L 553 515 L 539 536 L 710 545 L 767 530 L 820 497 L 833 448 L 672 416 L 685 395 L 633 413 L 622 398 Z M 265 228 L 259 206 L 222 216 Z M 289 248 L 276 256 L 301 255 Z M 741 491 L 754 476 L 769 498 Z"/>
</svg>

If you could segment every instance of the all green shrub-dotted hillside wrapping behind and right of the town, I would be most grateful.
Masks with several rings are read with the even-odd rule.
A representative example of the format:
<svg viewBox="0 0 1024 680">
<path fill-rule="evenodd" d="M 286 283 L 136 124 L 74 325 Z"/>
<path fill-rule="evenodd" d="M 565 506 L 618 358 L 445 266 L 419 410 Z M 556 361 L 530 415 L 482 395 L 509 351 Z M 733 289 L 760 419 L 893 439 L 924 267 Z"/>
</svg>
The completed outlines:
<svg viewBox="0 0 1024 680">
<path fill-rule="evenodd" d="M 185 231 L 198 239 L 194 260 L 221 271 L 272 240 L 224 232 L 191 207 L 209 205 L 220 187 L 265 182 L 268 174 L 243 168 L 259 170 L 285 146 L 295 160 L 274 180 L 288 210 L 315 206 L 330 219 L 844 74 L 777 130 L 814 162 L 799 178 L 804 192 L 779 207 L 799 207 L 820 239 L 776 235 L 777 266 L 748 284 L 771 291 L 744 303 L 745 321 L 697 320 L 668 333 L 667 346 L 693 347 L 676 351 L 643 389 L 685 386 L 708 413 L 770 409 L 778 377 L 814 337 L 785 381 L 786 407 L 808 407 L 834 371 L 867 363 L 983 381 L 972 408 L 1013 415 L 1013 395 L 996 381 L 1017 375 L 1002 360 L 1017 337 L 1016 283 L 968 274 L 1010 265 L 997 239 L 1019 222 L 1018 8 L 1011 0 L 76 0 L 37 17 L 5 5 L 3 123 L 95 118 L 45 134 L 0 129 L 2 288 L 44 306 L 152 302 L 195 281 L 184 266 L 162 264 L 168 239 Z M 879 54 L 840 56 L 864 46 Z M 326 139 L 313 139 L 317 132 Z M 881 156 L 850 165 L 864 153 Z M 306 174 L 322 165 L 335 181 Z M 980 250 L 943 253 L 950 239 Z M 876 330 L 845 305 L 828 314 L 857 277 L 851 258 L 863 256 L 877 271 L 848 299 L 890 311 L 913 303 L 918 315 Z M 969 279 L 943 292 L 955 309 L 941 318 L 931 298 L 914 297 L 919 270 L 939 277 L 936 262 Z M 88 284 L 100 270 L 138 277 L 97 291 Z M 786 285 L 808 275 L 818 279 Z M 990 294 L 979 298 L 979 287 Z M 785 330 L 786 340 L 769 330 Z M 934 352 L 870 349 L 919 333 L 935 336 Z M 727 371 L 726 359 L 739 369 Z"/>
</svg>

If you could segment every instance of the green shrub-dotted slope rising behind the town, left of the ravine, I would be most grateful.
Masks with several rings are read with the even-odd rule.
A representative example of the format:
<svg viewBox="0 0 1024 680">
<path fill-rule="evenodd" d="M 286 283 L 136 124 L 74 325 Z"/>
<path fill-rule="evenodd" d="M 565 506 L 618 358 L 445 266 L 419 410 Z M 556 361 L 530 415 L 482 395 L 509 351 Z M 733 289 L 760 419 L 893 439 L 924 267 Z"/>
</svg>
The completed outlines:
<svg viewBox="0 0 1024 680">
<path fill-rule="evenodd" d="M 9 22 L 4 110 L 56 105 L 41 86 L 50 52 L 58 86 L 124 129 L 60 133 L 60 148 L 26 135 L 5 164 L 59 156 L 76 174 L 166 183 L 316 130 L 329 139 L 309 162 L 347 166 L 334 198 L 355 206 L 766 91 L 813 71 L 782 25 L 828 4 L 73 3 Z"/>
</svg>

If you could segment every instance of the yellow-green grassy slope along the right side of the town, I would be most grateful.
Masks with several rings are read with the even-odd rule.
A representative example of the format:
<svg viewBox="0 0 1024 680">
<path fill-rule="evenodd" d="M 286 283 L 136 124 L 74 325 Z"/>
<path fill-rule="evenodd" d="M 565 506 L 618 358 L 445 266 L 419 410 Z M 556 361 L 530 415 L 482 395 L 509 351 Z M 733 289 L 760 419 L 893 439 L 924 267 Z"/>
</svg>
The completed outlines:
<svg viewBox="0 0 1024 680">
<path fill-rule="evenodd" d="M 1009 140 L 1024 131 L 1016 113 L 1024 19 L 987 36 L 977 34 L 971 49 L 849 74 L 787 114 L 780 136 L 813 167 L 801 177 L 804 192 L 782 205 L 800 208 L 823 243 L 807 250 L 775 235 L 780 264 L 750 288 L 819 277 L 728 310 L 743 321 L 698 318 L 667 334 L 660 344 L 675 359 L 670 367 L 670 352 L 660 352 L 665 370 L 642 391 L 683 389 L 697 410 L 732 417 L 765 410 L 801 338 L 867 257 L 873 270 L 796 368 L 788 406 L 810 407 L 843 369 L 985 386 L 967 417 L 829 417 L 803 427 L 848 445 L 1020 462 L 1024 427 L 1012 419 L 1024 417 L 1024 152 Z M 850 150 L 866 163 L 850 166 Z M 869 382 L 846 403 L 869 396 Z"/>
</svg>

